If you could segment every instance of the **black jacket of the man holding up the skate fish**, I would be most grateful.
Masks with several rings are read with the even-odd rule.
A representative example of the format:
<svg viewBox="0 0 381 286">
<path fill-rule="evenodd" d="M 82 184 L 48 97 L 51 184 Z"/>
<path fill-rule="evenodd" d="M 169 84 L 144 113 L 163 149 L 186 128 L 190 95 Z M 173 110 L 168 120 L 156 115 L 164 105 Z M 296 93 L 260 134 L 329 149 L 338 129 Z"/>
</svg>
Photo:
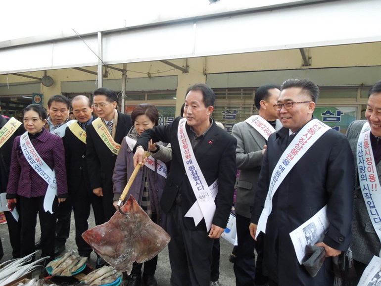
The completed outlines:
<svg viewBox="0 0 381 286">
<path fill-rule="evenodd" d="M 171 143 L 171 169 L 160 200 L 160 206 L 165 213 L 168 213 L 175 203 L 177 194 L 181 193 L 181 206 L 184 216 L 196 201 L 196 197 L 184 168 L 177 139 L 180 119 L 182 117 L 176 118 L 171 124 L 144 131 L 136 146 L 142 144 L 147 149 L 149 139 L 152 139 L 153 142 Z M 188 129 L 189 126 L 187 126 Z M 233 204 L 234 185 L 237 176 L 236 146 L 237 140 L 213 121 L 212 127 L 193 150 L 207 184 L 210 186 L 217 178 L 219 180 L 218 194 L 215 199 L 217 209 L 212 223 L 221 228 L 226 228 Z M 193 218 L 184 217 L 184 223 L 191 230 L 206 229 L 204 219 L 198 226 L 195 226 Z"/>
</svg>

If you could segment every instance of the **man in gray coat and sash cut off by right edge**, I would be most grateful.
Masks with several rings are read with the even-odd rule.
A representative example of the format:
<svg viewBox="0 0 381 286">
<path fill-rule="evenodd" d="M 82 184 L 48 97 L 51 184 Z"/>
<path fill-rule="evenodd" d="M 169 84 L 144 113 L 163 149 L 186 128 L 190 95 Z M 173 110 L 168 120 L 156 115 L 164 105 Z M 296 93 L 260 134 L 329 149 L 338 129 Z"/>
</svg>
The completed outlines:
<svg viewBox="0 0 381 286">
<path fill-rule="evenodd" d="M 373 153 L 371 156 L 373 157 L 374 164 L 376 166 L 376 178 L 378 178 L 379 182 L 381 182 L 381 81 L 377 82 L 369 92 L 367 109 L 365 111 L 365 117 L 367 120 L 358 120 L 353 121 L 347 131 L 347 137 L 349 143 L 352 147 L 353 157 L 355 159 L 355 173 L 356 173 L 356 181 L 355 181 L 355 190 L 353 194 L 353 219 L 352 219 L 352 236 L 353 239 L 351 241 L 350 247 L 353 253 L 354 266 L 357 272 L 357 279 L 359 280 L 365 268 L 368 266 L 369 262 L 372 260 L 373 256 L 380 255 L 381 243 L 380 243 L 380 232 L 379 235 L 375 231 L 375 229 L 379 229 L 380 227 L 375 228 L 373 222 L 375 222 L 374 215 L 375 209 L 378 209 L 380 214 L 380 199 L 378 200 L 378 204 L 376 201 L 376 208 L 373 211 L 369 212 L 367 209 L 367 205 L 371 205 L 371 201 L 369 201 L 369 197 L 367 196 L 367 191 L 363 190 L 360 186 L 360 178 L 358 171 L 358 160 L 356 158 L 357 153 L 361 152 L 361 149 L 357 150 L 358 144 L 363 144 L 361 140 L 359 140 L 360 133 L 362 133 L 362 128 L 364 125 L 370 126 L 370 132 L 368 130 L 367 134 L 369 134 L 369 140 L 372 145 Z M 364 130 L 366 132 L 366 130 Z M 361 164 L 361 160 L 359 165 Z M 361 166 L 361 165 L 360 165 Z M 361 167 L 360 167 L 361 168 Z M 367 168 L 368 169 L 368 168 Z M 367 174 L 368 175 L 368 174 Z M 362 178 L 364 180 L 364 178 Z M 370 184 L 373 185 L 373 184 Z M 373 191 L 373 190 L 372 190 Z M 376 192 L 375 192 L 376 193 Z M 364 196 L 367 198 L 367 202 L 365 202 Z M 377 199 L 376 195 L 371 196 L 373 199 Z M 377 208 L 378 206 L 378 208 Z M 372 219 L 370 217 L 370 213 L 372 215 Z M 377 220 L 376 220 L 377 221 Z M 379 223 L 380 225 L 380 223 Z"/>
</svg>

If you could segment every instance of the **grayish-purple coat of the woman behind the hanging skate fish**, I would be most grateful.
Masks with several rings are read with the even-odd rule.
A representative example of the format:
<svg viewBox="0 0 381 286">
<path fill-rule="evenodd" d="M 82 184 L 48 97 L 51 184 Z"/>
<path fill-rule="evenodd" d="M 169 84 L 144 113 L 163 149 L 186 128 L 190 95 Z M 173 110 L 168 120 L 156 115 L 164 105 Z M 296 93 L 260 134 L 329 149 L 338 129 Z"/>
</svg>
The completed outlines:
<svg viewBox="0 0 381 286">
<path fill-rule="evenodd" d="M 134 128 L 132 128 L 132 130 L 133 129 Z M 124 188 L 127 185 L 128 179 L 134 172 L 133 157 L 134 153 L 132 152 L 132 150 L 126 142 L 126 139 L 124 138 L 119 149 L 118 157 L 116 159 L 114 174 L 112 175 L 112 182 L 114 183 L 114 199 L 118 199 L 119 196 L 122 194 Z M 160 225 L 163 229 L 166 229 L 166 215 L 160 208 L 160 198 L 163 194 L 163 189 L 165 185 L 164 177 L 157 174 L 155 171 L 143 166 L 143 168 L 140 169 L 137 176 L 135 177 L 134 183 L 132 184 L 126 198 L 128 198 L 130 194 L 132 194 L 136 201 L 139 203 L 139 205 L 141 204 L 144 187 L 144 172 L 147 172 L 148 182 L 150 184 L 149 198 L 151 208 L 152 210 L 155 210 L 157 214 L 156 223 Z"/>
</svg>

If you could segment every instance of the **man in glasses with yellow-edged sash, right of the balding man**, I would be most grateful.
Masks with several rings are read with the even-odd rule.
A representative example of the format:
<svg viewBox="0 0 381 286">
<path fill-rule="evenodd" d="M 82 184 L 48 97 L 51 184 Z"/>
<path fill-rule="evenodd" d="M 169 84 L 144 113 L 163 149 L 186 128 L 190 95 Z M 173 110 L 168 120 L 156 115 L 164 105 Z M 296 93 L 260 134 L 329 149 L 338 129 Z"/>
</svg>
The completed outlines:
<svg viewBox="0 0 381 286">
<path fill-rule="evenodd" d="M 117 146 L 127 136 L 131 129 L 131 115 L 116 110 L 117 96 L 107 88 L 99 88 L 93 94 L 94 108 L 98 119 L 87 126 L 87 166 L 90 179 L 90 188 L 98 196 L 100 209 L 94 209 L 102 219 L 99 223 L 107 222 L 115 213 L 113 206 L 112 173 L 114 171 Z M 107 143 L 101 138 L 99 130 L 107 128 Z M 112 138 L 111 138 L 112 137 Z M 109 147 L 109 146 L 113 147 Z M 97 259 L 97 266 L 104 264 L 101 257 Z"/>
</svg>

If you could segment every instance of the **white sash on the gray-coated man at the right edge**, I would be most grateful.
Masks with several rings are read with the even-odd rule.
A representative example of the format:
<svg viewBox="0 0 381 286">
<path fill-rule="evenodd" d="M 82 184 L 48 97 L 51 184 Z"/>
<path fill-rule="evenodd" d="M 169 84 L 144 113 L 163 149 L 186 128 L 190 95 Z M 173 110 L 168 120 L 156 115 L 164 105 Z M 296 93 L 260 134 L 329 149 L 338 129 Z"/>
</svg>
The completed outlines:
<svg viewBox="0 0 381 286">
<path fill-rule="evenodd" d="M 359 184 L 372 225 L 381 240 L 381 186 L 373 156 L 371 127 L 366 122 L 357 141 L 356 159 Z"/>
</svg>

